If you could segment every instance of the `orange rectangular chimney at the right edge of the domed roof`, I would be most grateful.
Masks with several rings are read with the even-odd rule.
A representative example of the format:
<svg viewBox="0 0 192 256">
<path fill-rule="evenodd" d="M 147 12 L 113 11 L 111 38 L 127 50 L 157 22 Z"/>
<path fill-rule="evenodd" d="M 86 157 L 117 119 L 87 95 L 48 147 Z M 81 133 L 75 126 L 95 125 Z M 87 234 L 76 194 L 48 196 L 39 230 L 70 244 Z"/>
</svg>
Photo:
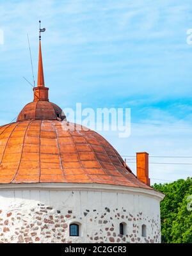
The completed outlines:
<svg viewBox="0 0 192 256">
<path fill-rule="evenodd" d="M 150 179 L 148 179 L 148 153 L 138 152 L 137 158 L 137 177 L 139 180 L 150 186 Z"/>
</svg>

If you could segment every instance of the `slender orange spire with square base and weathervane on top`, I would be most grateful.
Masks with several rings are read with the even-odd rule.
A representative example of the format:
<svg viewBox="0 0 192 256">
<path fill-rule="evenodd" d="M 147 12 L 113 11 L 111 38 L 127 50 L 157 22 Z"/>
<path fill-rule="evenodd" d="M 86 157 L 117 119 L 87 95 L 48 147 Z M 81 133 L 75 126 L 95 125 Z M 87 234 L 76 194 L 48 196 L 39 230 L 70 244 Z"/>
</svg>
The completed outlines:
<svg viewBox="0 0 192 256">
<path fill-rule="evenodd" d="M 49 101 L 48 90 L 49 88 L 45 87 L 44 83 L 44 67 L 42 60 L 42 45 L 41 45 L 41 33 L 45 31 L 45 28 L 41 29 L 41 22 L 39 28 L 39 52 L 38 52 L 38 77 L 37 77 L 37 86 L 33 88 L 34 91 L 34 100 L 33 101 Z"/>
</svg>

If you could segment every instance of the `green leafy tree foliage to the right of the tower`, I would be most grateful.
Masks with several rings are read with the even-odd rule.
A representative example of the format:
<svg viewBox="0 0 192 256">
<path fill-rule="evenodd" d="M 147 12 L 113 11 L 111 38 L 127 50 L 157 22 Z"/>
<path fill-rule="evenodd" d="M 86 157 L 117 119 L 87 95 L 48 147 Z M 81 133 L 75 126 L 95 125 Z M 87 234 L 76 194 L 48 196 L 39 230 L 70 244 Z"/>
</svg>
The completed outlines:
<svg viewBox="0 0 192 256">
<path fill-rule="evenodd" d="M 161 202 L 162 243 L 192 243 L 192 178 L 153 187 L 166 195 Z"/>
</svg>

